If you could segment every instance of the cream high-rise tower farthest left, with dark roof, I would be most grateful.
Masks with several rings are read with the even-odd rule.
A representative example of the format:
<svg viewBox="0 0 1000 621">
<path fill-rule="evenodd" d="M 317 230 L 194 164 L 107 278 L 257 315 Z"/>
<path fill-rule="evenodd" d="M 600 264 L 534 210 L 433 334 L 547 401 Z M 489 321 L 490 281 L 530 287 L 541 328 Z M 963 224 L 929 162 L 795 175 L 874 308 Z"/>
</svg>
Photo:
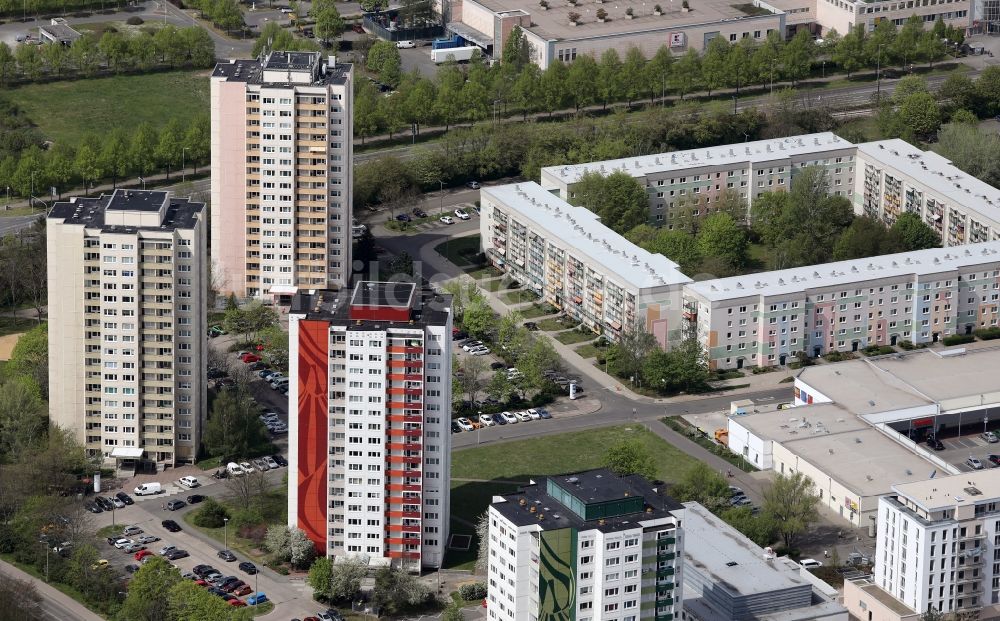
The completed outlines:
<svg viewBox="0 0 1000 621">
<path fill-rule="evenodd" d="M 205 206 L 162 191 L 48 216 L 49 419 L 106 460 L 193 463 L 206 405 Z"/>
</svg>

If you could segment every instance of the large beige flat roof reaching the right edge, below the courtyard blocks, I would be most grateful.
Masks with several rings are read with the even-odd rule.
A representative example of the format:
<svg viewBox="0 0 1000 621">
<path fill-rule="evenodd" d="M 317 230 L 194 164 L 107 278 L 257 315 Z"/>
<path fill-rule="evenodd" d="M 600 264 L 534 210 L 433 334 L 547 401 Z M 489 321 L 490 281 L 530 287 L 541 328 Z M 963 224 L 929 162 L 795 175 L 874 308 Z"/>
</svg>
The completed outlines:
<svg viewBox="0 0 1000 621">
<path fill-rule="evenodd" d="M 934 350 L 916 350 L 810 366 L 798 379 L 863 415 L 996 393 L 1000 391 L 997 369 L 1000 347 L 967 349 L 964 354 L 943 357 Z"/>
</svg>

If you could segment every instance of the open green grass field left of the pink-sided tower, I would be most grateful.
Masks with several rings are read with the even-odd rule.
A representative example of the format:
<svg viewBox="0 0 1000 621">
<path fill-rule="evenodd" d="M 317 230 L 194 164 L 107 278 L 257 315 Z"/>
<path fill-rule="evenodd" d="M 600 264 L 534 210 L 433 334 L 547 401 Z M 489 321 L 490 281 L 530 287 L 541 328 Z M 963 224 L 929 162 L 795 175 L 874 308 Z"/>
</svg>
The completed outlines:
<svg viewBox="0 0 1000 621">
<path fill-rule="evenodd" d="M 64 80 L 6 89 L 0 96 L 21 107 L 46 138 L 76 144 L 87 134 L 131 130 L 143 121 L 159 128 L 175 117 L 187 125 L 208 115 L 208 72 Z"/>
</svg>

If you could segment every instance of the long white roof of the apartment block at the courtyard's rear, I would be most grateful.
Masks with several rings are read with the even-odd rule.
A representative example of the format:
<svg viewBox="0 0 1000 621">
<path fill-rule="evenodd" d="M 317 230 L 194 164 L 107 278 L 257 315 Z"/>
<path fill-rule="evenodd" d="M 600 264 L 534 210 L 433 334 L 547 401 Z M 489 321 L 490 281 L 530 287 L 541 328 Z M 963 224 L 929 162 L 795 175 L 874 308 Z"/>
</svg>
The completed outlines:
<svg viewBox="0 0 1000 621">
<path fill-rule="evenodd" d="M 701 5 L 699 4 L 700 9 Z M 551 10 L 545 12 L 548 13 Z M 738 163 L 753 164 L 800 155 L 820 155 L 826 151 L 839 151 L 853 147 L 854 143 L 844 140 L 833 132 L 820 132 L 790 136 L 788 138 L 755 140 L 753 142 L 739 142 L 719 145 L 717 147 L 672 151 L 656 155 L 625 157 L 617 160 L 604 160 L 586 164 L 547 166 L 542 169 L 542 172 L 561 183 L 573 184 L 588 172 L 609 174 L 615 171 L 623 171 L 633 177 L 644 177 L 671 170 L 686 170 L 702 166 L 722 166 Z"/>
</svg>

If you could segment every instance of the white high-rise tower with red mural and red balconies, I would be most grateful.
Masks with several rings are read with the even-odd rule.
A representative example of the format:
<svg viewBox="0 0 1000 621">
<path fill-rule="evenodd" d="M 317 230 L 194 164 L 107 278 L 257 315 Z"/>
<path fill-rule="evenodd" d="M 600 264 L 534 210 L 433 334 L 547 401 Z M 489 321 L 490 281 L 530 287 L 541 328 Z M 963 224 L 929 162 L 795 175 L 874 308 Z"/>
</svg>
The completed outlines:
<svg viewBox="0 0 1000 621">
<path fill-rule="evenodd" d="M 448 540 L 451 298 L 300 291 L 289 311 L 288 524 L 321 554 L 409 571 Z"/>
</svg>

